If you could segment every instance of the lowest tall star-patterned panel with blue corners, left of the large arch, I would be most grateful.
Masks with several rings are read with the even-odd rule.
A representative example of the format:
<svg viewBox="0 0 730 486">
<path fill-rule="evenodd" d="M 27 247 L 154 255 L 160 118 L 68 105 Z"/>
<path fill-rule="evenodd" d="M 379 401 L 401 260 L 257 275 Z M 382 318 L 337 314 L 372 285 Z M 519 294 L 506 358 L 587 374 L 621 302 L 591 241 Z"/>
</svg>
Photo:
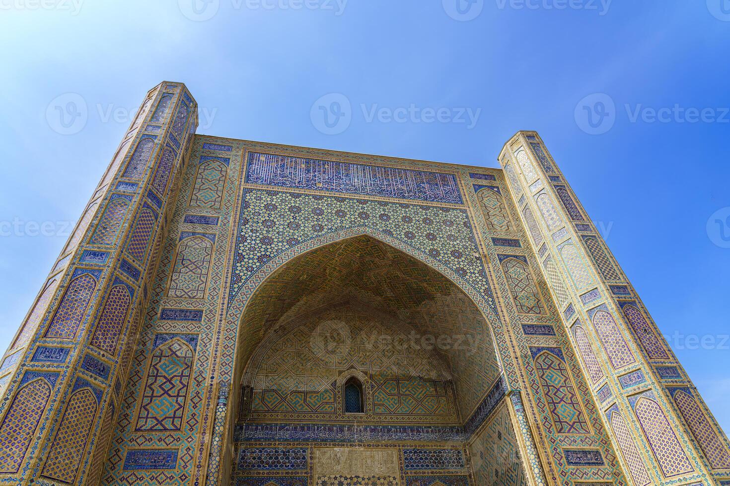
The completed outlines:
<svg viewBox="0 0 730 486">
<path fill-rule="evenodd" d="M 135 430 L 180 430 L 197 342 L 192 334 L 155 336 Z"/>
</svg>

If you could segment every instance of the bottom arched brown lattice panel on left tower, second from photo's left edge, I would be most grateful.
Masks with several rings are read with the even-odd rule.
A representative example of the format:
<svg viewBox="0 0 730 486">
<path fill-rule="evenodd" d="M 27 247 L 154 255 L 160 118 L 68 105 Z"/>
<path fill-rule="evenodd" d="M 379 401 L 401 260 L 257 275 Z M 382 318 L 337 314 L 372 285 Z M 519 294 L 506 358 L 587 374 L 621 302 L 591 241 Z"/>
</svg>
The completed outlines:
<svg viewBox="0 0 730 486">
<path fill-rule="evenodd" d="M 45 477 L 74 482 L 96 418 L 97 405 L 96 396 L 89 388 L 72 394 L 43 467 Z"/>
</svg>

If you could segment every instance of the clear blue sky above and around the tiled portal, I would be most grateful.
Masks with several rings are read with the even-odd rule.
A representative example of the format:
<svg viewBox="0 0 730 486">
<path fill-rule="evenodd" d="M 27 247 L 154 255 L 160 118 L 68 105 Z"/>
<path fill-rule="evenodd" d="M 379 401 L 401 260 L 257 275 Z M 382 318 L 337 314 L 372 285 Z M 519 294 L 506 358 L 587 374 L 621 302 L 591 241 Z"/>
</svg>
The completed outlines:
<svg viewBox="0 0 730 486">
<path fill-rule="evenodd" d="M 730 4 L 455 2 L 1 1 L 0 347 L 166 79 L 216 136 L 495 167 L 538 130 L 730 431 Z"/>
</svg>

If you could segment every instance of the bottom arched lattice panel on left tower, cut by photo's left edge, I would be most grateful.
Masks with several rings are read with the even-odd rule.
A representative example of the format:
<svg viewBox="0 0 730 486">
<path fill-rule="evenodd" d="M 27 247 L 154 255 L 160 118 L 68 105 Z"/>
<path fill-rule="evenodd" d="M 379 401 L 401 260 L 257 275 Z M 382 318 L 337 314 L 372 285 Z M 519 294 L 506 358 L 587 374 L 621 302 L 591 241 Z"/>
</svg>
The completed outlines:
<svg viewBox="0 0 730 486">
<path fill-rule="evenodd" d="M 0 426 L 0 473 L 14 473 L 20 468 L 50 391 L 50 384 L 38 378 L 15 395 Z"/>
</svg>

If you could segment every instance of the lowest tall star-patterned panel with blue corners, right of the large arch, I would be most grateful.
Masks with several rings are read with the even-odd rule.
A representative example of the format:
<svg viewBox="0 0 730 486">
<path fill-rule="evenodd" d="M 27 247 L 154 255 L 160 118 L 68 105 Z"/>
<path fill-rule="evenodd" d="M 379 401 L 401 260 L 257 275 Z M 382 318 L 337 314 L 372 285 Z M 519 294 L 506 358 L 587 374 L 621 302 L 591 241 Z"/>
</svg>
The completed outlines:
<svg viewBox="0 0 730 486">
<path fill-rule="evenodd" d="M 561 350 L 531 348 L 542 395 L 558 434 L 591 434 Z"/>
</svg>

